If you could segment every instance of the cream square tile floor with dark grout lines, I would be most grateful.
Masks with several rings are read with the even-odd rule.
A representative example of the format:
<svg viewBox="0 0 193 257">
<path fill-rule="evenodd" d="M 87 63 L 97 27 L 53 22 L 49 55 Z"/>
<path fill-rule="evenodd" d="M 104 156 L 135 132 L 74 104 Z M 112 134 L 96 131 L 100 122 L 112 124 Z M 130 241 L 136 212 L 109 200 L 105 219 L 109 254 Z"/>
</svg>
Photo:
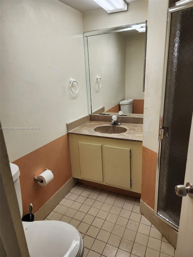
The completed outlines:
<svg viewBox="0 0 193 257">
<path fill-rule="evenodd" d="M 170 257 L 174 247 L 139 212 L 139 199 L 77 184 L 46 217 L 78 229 L 84 257 Z"/>
</svg>

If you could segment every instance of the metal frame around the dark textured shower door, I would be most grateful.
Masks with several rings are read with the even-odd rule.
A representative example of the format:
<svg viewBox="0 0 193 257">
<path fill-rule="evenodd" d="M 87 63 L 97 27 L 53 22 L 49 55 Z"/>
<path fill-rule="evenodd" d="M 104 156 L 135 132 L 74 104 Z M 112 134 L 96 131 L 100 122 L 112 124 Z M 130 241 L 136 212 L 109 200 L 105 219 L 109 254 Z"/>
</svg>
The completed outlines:
<svg viewBox="0 0 193 257">
<path fill-rule="evenodd" d="M 179 1 L 180 2 L 180 1 Z M 178 4 L 178 2 L 176 2 Z M 170 36 L 170 24 L 171 24 L 171 14 L 176 11 L 193 7 L 193 0 L 185 4 L 179 4 L 174 7 L 168 8 L 167 13 L 167 24 L 166 24 L 166 42 L 165 42 L 165 56 L 164 56 L 164 66 L 163 66 L 163 83 L 162 83 L 162 93 L 161 93 L 161 107 L 160 107 L 160 127 L 159 127 L 159 138 L 158 138 L 158 151 L 157 151 L 157 172 L 156 172 L 156 188 L 155 188 L 155 206 L 154 215 L 168 224 L 170 227 L 178 231 L 178 228 L 171 224 L 166 219 L 162 218 L 157 214 L 158 206 L 158 187 L 159 187 L 159 176 L 160 176 L 160 157 L 161 157 L 161 144 L 162 144 L 162 133 L 161 128 L 163 127 L 163 112 L 164 112 L 164 102 L 165 102 L 165 91 L 166 91 L 166 75 L 167 75 L 167 63 L 168 63 L 168 51 L 169 51 L 169 36 Z"/>
</svg>

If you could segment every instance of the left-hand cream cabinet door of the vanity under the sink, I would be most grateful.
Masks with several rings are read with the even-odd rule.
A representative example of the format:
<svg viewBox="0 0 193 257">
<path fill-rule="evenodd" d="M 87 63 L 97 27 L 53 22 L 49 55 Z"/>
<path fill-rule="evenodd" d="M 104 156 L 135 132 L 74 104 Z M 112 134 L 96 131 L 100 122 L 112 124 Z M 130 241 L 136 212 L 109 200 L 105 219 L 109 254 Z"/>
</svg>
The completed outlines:
<svg viewBox="0 0 193 257">
<path fill-rule="evenodd" d="M 81 177 L 103 182 L 101 145 L 78 143 L 81 165 Z"/>
</svg>

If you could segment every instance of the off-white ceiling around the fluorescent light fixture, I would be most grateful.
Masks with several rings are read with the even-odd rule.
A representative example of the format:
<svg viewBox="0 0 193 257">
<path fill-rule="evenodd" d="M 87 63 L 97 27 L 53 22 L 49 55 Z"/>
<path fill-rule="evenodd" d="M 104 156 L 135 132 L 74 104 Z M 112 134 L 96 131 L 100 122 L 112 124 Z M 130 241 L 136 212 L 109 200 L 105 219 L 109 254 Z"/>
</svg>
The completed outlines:
<svg viewBox="0 0 193 257">
<path fill-rule="evenodd" d="M 60 2 L 84 13 L 102 9 L 94 0 L 59 0 Z M 125 0 L 126 3 L 138 2 L 142 0 Z"/>
</svg>

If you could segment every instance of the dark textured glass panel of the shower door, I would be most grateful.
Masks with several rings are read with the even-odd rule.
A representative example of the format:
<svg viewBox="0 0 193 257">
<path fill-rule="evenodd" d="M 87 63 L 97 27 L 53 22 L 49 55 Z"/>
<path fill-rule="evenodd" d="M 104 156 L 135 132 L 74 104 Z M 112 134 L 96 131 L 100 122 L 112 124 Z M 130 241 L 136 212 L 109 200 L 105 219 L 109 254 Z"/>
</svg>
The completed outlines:
<svg viewBox="0 0 193 257">
<path fill-rule="evenodd" d="M 182 197 L 174 188 L 184 184 L 193 111 L 192 25 L 193 8 L 171 14 L 157 212 L 176 227 Z"/>
</svg>

